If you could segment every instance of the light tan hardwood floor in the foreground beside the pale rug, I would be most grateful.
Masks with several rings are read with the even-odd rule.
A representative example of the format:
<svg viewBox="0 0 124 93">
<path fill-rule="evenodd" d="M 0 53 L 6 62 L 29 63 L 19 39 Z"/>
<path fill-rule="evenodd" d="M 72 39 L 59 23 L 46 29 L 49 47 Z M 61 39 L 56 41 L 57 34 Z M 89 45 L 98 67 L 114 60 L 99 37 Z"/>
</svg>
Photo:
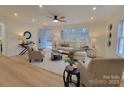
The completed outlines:
<svg viewBox="0 0 124 93">
<path fill-rule="evenodd" d="M 1 87 L 63 87 L 62 76 L 0 55 Z"/>
</svg>

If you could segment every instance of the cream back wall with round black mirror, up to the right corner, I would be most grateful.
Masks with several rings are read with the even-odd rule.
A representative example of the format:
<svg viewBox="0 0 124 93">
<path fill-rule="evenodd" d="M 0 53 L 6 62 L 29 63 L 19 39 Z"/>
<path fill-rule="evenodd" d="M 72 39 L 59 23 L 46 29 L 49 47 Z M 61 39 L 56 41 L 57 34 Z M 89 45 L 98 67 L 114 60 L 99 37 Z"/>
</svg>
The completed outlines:
<svg viewBox="0 0 124 93">
<path fill-rule="evenodd" d="M 18 33 L 24 32 L 24 31 L 30 31 L 32 33 L 31 40 L 34 41 L 36 44 L 38 44 L 38 31 L 39 29 L 42 29 L 42 26 L 35 25 L 35 23 L 27 24 L 23 23 L 14 19 L 3 19 L 0 20 L 0 22 L 5 24 L 6 29 L 6 42 L 7 42 L 7 55 L 13 56 L 18 55 L 21 52 L 21 48 L 18 46 L 19 40 L 18 40 Z M 52 32 L 54 33 L 54 36 L 57 37 L 56 39 L 61 39 L 60 37 L 60 31 L 63 28 L 79 28 L 79 27 L 86 27 L 89 29 L 90 38 L 96 38 L 95 46 L 97 48 L 97 54 L 98 56 L 105 56 L 106 54 L 106 48 L 105 48 L 105 32 L 106 32 L 106 23 L 85 23 L 85 24 L 72 24 L 72 25 L 66 25 L 66 26 L 54 26 L 54 27 L 48 27 L 52 29 Z"/>
</svg>

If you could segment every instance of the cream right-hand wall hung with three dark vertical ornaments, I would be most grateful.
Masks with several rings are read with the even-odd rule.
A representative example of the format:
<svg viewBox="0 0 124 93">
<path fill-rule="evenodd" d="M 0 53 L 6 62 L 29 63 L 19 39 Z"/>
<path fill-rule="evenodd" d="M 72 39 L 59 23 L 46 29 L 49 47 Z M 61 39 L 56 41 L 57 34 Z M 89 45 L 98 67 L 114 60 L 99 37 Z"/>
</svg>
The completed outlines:
<svg viewBox="0 0 124 93">
<path fill-rule="evenodd" d="M 120 11 L 123 11 L 123 9 Z M 112 38 L 111 38 L 111 43 L 112 45 L 110 47 L 106 46 L 106 57 L 108 58 L 120 58 L 117 55 L 117 45 L 118 45 L 118 24 L 121 20 L 124 20 L 124 13 L 120 12 L 120 13 L 115 13 L 115 15 L 113 15 L 113 17 L 111 17 L 111 19 L 108 21 L 108 25 L 112 24 L 113 28 L 112 28 Z M 106 35 L 108 35 L 108 30 L 106 30 Z"/>
</svg>

